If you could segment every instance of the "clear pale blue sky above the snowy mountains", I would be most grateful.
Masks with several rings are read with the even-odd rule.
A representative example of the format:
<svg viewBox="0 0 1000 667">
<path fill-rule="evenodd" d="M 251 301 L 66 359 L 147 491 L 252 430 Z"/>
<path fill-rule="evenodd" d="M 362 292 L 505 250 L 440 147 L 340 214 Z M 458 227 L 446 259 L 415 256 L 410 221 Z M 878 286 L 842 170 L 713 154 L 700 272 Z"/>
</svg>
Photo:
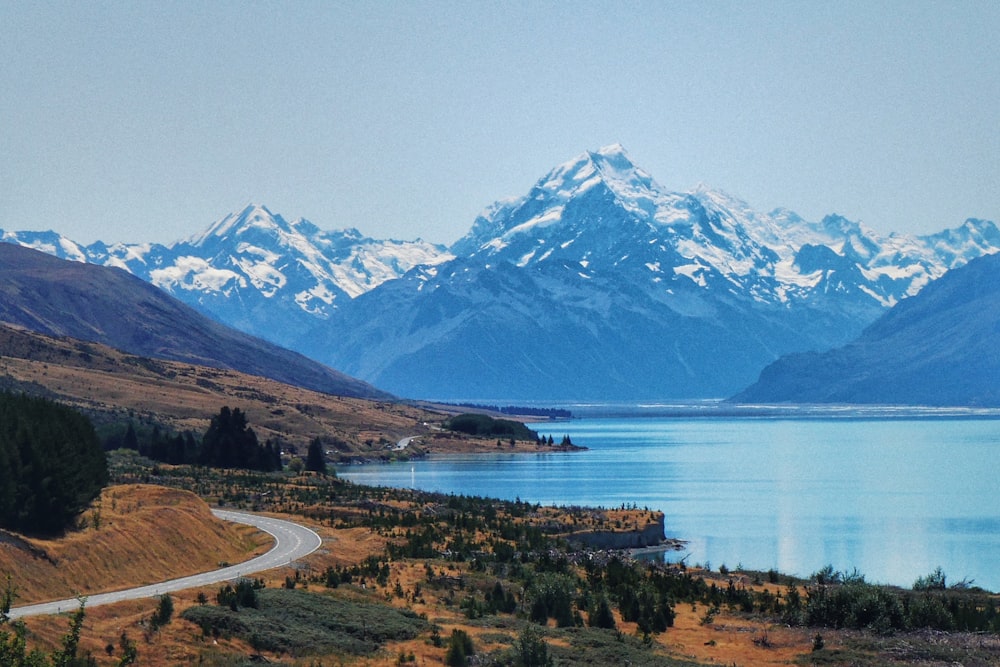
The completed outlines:
<svg viewBox="0 0 1000 667">
<path fill-rule="evenodd" d="M 0 228 L 169 243 L 248 203 L 452 243 L 621 143 L 671 190 L 1000 222 L 1000 2 L 0 0 Z"/>
</svg>

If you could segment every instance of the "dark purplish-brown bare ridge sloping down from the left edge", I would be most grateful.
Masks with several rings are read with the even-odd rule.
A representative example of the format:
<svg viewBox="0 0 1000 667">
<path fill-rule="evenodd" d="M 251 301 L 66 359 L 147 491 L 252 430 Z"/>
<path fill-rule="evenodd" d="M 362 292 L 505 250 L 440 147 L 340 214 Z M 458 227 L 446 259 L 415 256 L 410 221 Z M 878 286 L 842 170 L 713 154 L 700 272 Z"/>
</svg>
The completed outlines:
<svg viewBox="0 0 1000 667">
<path fill-rule="evenodd" d="M 126 271 L 6 243 L 0 244 L 0 321 L 331 394 L 389 397 L 297 352 L 211 320 Z"/>
</svg>

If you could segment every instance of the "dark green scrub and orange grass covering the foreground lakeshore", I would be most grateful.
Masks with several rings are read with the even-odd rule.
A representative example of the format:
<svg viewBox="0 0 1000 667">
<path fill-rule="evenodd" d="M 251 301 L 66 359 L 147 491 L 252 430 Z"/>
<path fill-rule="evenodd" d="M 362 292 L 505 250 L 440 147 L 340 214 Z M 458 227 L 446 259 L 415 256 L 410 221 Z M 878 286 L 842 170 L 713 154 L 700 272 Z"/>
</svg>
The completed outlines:
<svg viewBox="0 0 1000 667">
<path fill-rule="evenodd" d="M 236 432 L 247 428 L 245 420 L 234 423 L 240 427 Z M 211 533 L 218 524 L 208 505 L 288 516 L 316 529 L 324 546 L 304 562 L 260 579 L 87 610 L 86 626 L 81 604 L 70 618 L 70 635 L 65 618 L 0 623 L 0 651 L 8 652 L 0 655 L 20 656 L 9 664 L 985 665 L 1000 660 L 997 597 L 970 582 L 948 585 L 940 570 L 903 590 L 832 567 L 797 580 L 739 566 L 712 570 L 684 561 L 643 561 L 627 551 L 584 545 L 588 534 L 662 526 L 663 516 L 645 508 L 554 508 L 365 487 L 301 468 L 170 465 L 134 450 L 111 452 L 109 461 L 113 486 L 80 515 L 84 520 L 73 533 L 48 542 L 18 538 L 22 544 L 8 540 L 3 546 L 20 550 L 19 558 L 3 561 L 11 574 L 5 608 L 21 594 L 19 582 L 28 574 L 24 562 L 48 557 L 58 573 L 70 559 L 53 554 L 69 553 L 60 550 L 76 541 L 81 546 L 74 558 L 100 571 L 90 563 L 114 558 L 124 548 L 128 531 L 113 531 L 140 511 L 152 512 L 146 523 L 168 529 L 166 535 L 145 536 L 154 554 L 169 550 L 169 544 L 185 550 L 204 544 L 200 534 L 175 541 L 169 527 L 190 525 L 184 517 L 198 516 L 202 523 L 195 532 Z M 172 509 L 178 505 L 189 507 L 188 514 Z M 109 551 L 96 548 L 102 537 L 113 537 Z M 244 543 L 243 549 L 253 547 Z M 227 554 L 215 565 L 243 558 L 239 549 Z M 172 562 L 177 560 L 184 557 Z M 204 569 L 212 567 L 201 562 Z M 111 568 L 110 581 L 114 587 L 148 583 L 148 569 Z"/>
</svg>

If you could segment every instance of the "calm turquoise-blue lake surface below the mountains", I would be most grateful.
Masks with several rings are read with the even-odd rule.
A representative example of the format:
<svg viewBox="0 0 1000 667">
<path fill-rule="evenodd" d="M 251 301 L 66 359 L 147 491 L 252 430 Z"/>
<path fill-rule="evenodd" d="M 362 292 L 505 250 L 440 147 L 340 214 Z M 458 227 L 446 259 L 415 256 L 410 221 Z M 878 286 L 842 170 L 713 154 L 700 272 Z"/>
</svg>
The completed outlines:
<svg viewBox="0 0 1000 667">
<path fill-rule="evenodd" d="M 861 414 L 862 416 L 857 416 Z M 688 563 L 910 586 L 935 567 L 1000 590 L 995 416 L 584 417 L 533 425 L 587 451 L 338 469 L 363 484 L 658 509 Z"/>
</svg>

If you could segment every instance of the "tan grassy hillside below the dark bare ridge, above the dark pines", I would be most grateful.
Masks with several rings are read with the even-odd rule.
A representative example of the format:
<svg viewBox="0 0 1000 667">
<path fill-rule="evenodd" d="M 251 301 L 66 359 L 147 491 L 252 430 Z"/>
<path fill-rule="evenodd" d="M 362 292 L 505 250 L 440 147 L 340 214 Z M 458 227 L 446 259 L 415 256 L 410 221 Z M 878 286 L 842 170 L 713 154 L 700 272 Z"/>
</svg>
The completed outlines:
<svg viewBox="0 0 1000 667">
<path fill-rule="evenodd" d="M 147 359 L 71 338 L 0 325 L 0 387 L 41 394 L 95 423 L 145 420 L 203 432 L 224 405 L 239 407 L 258 438 L 303 447 L 339 439 L 375 455 L 400 438 L 429 433 L 441 415 L 387 401 L 332 396 L 266 378 Z"/>
</svg>

